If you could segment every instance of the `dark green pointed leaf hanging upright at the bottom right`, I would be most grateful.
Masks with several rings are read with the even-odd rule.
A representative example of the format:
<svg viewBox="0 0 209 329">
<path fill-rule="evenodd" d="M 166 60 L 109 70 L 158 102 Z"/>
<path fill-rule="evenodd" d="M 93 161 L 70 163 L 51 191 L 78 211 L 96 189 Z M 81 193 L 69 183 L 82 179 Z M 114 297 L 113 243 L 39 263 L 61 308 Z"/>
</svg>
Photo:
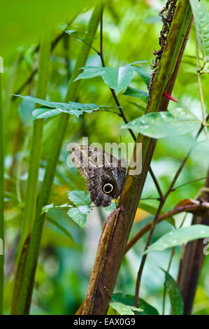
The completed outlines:
<svg viewBox="0 0 209 329">
<path fill-rule="evenodd" d="M 161 270 L 165 273 L 165 285 L 171 302 L 171 314 L 183 315 L 184 303 L 178 285 L 168 272 L 162 268 Z"/>
</svg>

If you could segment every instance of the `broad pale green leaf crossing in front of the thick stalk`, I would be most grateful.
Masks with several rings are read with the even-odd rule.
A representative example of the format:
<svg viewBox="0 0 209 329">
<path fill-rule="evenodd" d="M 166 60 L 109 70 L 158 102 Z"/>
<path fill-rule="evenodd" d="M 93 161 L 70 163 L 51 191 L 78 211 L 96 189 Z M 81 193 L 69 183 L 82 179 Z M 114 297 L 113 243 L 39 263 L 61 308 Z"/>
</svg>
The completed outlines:
<svg viewBox="0 0 209 329">
<path fill-rule="evenodd" d="M 201 122 L 193 113 L 185 109 L 173 109 L 169 112 L 147 113 L 122 128 L 129 128 L 155 139 L 193 132 Z"/>
</svg>

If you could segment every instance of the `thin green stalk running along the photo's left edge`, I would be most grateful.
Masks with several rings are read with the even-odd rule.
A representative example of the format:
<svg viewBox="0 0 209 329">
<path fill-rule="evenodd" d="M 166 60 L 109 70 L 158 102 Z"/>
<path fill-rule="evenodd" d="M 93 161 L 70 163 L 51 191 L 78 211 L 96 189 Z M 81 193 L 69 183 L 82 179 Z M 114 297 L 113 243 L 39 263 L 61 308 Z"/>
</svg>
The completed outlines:
<svg viewBox="0 0 209 329">
<path fill-rule="evenodd" d="M 3 314 L 3 265 L 4 265 L 4 228 L 3 228 L 3 105 L 0 73 L 0 314 Z M 3 249 L 3 250 L 2 250 Z"/>
</svg>

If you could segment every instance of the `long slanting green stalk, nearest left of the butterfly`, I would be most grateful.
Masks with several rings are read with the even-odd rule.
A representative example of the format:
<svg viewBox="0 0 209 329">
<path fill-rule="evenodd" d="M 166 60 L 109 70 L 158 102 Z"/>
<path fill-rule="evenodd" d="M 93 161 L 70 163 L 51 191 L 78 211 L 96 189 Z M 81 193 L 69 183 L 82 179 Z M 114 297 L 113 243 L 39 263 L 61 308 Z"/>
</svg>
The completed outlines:
<svg viewBox="0 0 209 329">
<path fill-rule="evenodd" d="M 96 29 L 99 25 L 101 13 L 101 5 L 97 5 L 92 13 L 92 18 L 89 21 L 87 40 L 89 45 L 91 45 L 93 38 L 96 34 Z M 89 41 L 91 40 L 91 41 Z M 80 67 L 85 66 L 87 57 L 89 55 L 90 47 L 86 43 L 82 43 L 78 59 L 75 63 L 71 80 L 69 82 L 68 90 L 66 92 L 65 102 L 75 101 L 78 94 L 78 87 L 80 85 L 80 80 L 73 83 L 73 80 L 80 73 Z M 29 250 L 27 259 L 25 262 L 24 272 L 22 273 L 22 285 L 21 289 L 15 293 L 15 302 L 13 303 L 12 314 L 28 314 L 29 307 L 31 304 L 31 295 L 34 286 L 34 276 L 36 272 L 36 264 L 38 262 L 38 253 L 41 244 L 41 236 L 43 232 L 43 223 L 45 214 L 41 215 L 42 208 L 48 203 L 50 190 L 52 188 L 52 183 L 55 177 L 55 170 L 57 166 L 57 161 L 59 160 L 59 153 L 62 148 L 62 143 L 64 140 L 64 134 L 69 121 L 69 115 L 62 113 L 59 116 L 57 124 L 57 134 L 52 140 L 52 151 L 50 152 L 48 158 L 48 164 L 45 170 L 45 176 L 43 180 L 43 185 L 41 192 L 38 195 L 38 204 L 36 207 L 36 218 L 34 221 L 34 227 L 31 233 L 31 239 L 29 242 Z M 27 244 L 27 241 L 26 241 Z M 24 250 L 24 248 L 23 248 Z"/>
</svg>

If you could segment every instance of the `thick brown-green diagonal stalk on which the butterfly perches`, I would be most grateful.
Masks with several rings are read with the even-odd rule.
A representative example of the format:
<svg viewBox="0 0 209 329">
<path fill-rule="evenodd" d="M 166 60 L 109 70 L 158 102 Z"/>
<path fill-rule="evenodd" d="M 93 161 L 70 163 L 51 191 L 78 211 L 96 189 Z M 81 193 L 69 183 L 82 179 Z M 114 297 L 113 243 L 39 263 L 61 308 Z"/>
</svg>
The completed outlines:
<svg viewBox="0 0 209 329">
<path fill-rule="evenodd" d="M 178 1 L 166 47 L 152 87 L 150 102 L 147 105 L 147 113 L 166 109 L 166 106 L 165 108 L 162 106 L 164 104 L 162 100 L 163 92 L 169 83 L 169 79 L 172 77 L 173 70 L 180 56 L 185 40 L 184 32 L 189 27 L 191 16 L 189 0 Z M 174 81 L 175 77 L 173 77 Z M 115 287 L 117 274 L 156 144 L 156 140 L 142 135 L 138 135 L 137 141 L 143 144 L 140 179 L 136 176 L 127 175 L 117 209 L 108 216 L 104 225 L 82 311 L 82 314 L 85 315 L 106 314 L 110 295 Z M 136 155 L 135 149 L 135 159 L 137 159 Z"/>
</svg>

